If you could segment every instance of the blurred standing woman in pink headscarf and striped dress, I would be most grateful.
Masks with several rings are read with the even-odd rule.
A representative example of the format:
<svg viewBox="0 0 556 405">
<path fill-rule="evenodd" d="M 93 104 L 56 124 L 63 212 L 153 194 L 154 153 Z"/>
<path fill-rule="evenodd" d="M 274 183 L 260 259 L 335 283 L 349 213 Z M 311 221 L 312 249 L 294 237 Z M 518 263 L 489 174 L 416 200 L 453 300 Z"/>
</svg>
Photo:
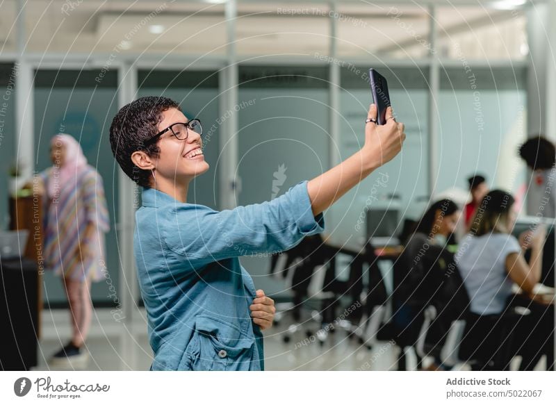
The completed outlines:
<svg viewBox="0 0 556 405">
<path fill-rule="evenodd" d="M 61 276 L 70 304 L 72 338 L 51 365 L 84 367 L 92 317 L 91 283 L 104 279 L 104 233 L 110 229 L 101 176 L 71 135 L 51 140 L 54 164 L 38 174 L 44 193 L 44 259 Z M 106 271 L 106 270 L 104 270 Z"/>
</svg>

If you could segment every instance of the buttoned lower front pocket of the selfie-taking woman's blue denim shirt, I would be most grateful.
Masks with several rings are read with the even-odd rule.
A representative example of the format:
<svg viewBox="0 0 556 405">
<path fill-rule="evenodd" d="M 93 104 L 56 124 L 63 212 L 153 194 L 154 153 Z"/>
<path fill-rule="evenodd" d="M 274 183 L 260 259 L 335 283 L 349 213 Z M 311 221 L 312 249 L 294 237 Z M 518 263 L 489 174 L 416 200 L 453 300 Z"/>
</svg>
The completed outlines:
<svg viewBox="0 0 556 405">
<path fill-rule="evenodd" d="M 253 357 L 254 337 L 217 317 L 197 315 L 179 370 L 250 370 Z"/>
</svg>

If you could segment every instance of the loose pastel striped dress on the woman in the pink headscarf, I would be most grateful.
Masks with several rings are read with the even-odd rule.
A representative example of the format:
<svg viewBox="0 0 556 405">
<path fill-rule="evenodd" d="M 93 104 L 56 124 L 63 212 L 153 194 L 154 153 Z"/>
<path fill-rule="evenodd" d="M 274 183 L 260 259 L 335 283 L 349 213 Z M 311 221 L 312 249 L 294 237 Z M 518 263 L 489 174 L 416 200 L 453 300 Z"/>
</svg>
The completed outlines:
<svg viewBox="0 0 556 405">
<path fill-rule="evenodd" d="M 50 167 L 39 176 L 48 189 Z M 43 256 L 46 267 L 72 280 L 102 281 L 106 278 L 104 233 L 110 230 L 102 178 L 87 165 L 72 181 L 60 185 L 56 198 L 44 195 Z M 85 227 L 93 222 L 96 232 L 84 240 Z M 79 243 L 88 245 L 89 256 L 79 260 Z"/>
</svg>

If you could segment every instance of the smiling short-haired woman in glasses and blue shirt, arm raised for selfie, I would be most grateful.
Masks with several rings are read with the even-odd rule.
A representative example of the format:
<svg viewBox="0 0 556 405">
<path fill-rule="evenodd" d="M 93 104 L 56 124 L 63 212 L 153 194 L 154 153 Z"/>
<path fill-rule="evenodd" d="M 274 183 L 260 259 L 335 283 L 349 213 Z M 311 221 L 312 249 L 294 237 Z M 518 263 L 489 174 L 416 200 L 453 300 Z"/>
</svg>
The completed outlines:
<svg viewBox="0 0 556 405">
<path fill-rule="evenodd" d="M 368 118 L 376 116 L 372 105 Z M 368 122 L 361 151 L 316 179 L 263 204 L 216 211 L 186 201 L 189 183 L 208 170 L 197 119 L 165 97 L 142 97 L 117 113 L 114 156 L 144 188 L 134 249 L 151 370 L 264 369 L 261 331 L 272 325 L 274 301 L 255 290 L 238 258 L 322 232 L 322 211 L 400 151 L 404 125 L 388 121 Z"/>
</svg>

